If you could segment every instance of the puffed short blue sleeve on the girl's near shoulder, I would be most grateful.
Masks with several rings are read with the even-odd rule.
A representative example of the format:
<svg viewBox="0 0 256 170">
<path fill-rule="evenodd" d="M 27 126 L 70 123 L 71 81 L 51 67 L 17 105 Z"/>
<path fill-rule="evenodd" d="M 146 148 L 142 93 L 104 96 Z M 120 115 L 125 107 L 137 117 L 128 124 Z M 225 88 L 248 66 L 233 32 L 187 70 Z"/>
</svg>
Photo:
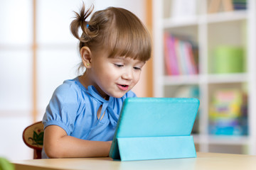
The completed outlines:
<svg viewBox="0 0 256 170">
<path fill-rule="evenodd" d="M 58 125 L 67 135 L 74 129 L 75 118 L 78 112 L 78 93 L 72 86 L 62 84 L 54 91 L 50 103 L 43 116 L 44 128 L 49 125 Z"/>
</svg>

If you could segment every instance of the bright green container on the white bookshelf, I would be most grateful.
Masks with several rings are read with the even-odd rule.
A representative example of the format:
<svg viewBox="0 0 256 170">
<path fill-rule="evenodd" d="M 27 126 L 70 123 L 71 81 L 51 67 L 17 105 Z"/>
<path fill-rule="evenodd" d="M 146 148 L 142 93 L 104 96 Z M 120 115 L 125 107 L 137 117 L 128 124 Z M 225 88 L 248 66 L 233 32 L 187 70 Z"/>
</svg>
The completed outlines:
<svg viewBox="0 0 256 170">
<path fill-rule="evenodd" d="M 244 72 L 244 50 L 242 47 L 220 46 L 214 52 L 214 73 Z"/>
</svg>

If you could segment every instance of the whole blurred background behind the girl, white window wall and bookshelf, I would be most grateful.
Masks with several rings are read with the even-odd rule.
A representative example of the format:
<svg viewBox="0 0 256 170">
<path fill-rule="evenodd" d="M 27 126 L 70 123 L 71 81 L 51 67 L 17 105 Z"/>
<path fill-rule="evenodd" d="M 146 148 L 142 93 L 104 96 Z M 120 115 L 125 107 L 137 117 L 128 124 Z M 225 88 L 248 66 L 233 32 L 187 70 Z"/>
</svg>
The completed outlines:
<svg viewBox="0 0 256 170">
<path fill-rule="evenodd" d="M 198 152 L 256 154 L 255 0 L 83 0 L 136 14 L 152 35 L 139 97 L 193 97 Z M 32 159 L 22 132 L 78 76 L 69 26 L 82 0 L 0 0 L 0 157 Z"/>
</svg>

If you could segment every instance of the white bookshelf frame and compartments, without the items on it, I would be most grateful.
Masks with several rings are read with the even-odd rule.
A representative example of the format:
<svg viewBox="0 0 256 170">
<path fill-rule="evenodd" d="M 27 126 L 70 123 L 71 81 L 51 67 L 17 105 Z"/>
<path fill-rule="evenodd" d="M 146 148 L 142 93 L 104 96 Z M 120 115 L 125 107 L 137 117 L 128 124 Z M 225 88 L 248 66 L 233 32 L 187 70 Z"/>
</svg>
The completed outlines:
<svg viewBox="0 0 256 170">
<path fill-rule="evenodd" d="M 256 154 L 256 1 L 247 0 L 247 8 L 239 10 L 230 10 L 230 6 L 225 8 L 222 4 L 214 12 L 210 12 L 210 0 L 191 1 L 192 4 L 183 0 L 153 0 L 154 96 L 191 97 L 189 89 L 196 86 L 201 101 L 198 129 L 193 134 L 196 149 L 200 152 Z M 183 16 L 175 9 L 182 5 L 188 11 Z M 166 33 L 185 36 L 197 45 L 198 74 L 167 73 Z M 242 48 L 241 72 L 216 73 L 218 65 L 214 65 L 214 52 L 220 45 Z M 238 89 L 247 94 L 242 99 L 247 101 L 247 134 L 210 133 L 210 108 L 214 93 L 219 89 Z M 181 92 L 178 94 L 178 91 Z"/>
</svg>

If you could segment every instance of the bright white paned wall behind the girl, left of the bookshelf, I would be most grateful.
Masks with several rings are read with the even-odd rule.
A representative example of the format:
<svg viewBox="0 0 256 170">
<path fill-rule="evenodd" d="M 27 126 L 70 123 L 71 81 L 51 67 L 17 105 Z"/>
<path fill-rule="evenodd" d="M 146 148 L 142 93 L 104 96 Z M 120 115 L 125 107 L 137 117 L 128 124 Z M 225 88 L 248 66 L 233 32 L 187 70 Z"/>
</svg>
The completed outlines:
<svg viewBox="0 0 256 170">
<path fill-rule="evenodd" d="M 96 11 L 119 6 L 145 20 L 144 0 L 85 1 L 86 6 L 92 3 Z M 80 0 L 37 1 L 38 120 L 53 90 L 77 76 L 78 42 L 69 25 L 80 4 Z M 22 141 L 23 129 L 32 123 L 32 18 L 31 0 L 0 1 L 0 157 L 10 160 L 32 158 L 32 149 Z M 136 87 L 138 96 L 143 95 L 142 84 Z"/>
</svg>

